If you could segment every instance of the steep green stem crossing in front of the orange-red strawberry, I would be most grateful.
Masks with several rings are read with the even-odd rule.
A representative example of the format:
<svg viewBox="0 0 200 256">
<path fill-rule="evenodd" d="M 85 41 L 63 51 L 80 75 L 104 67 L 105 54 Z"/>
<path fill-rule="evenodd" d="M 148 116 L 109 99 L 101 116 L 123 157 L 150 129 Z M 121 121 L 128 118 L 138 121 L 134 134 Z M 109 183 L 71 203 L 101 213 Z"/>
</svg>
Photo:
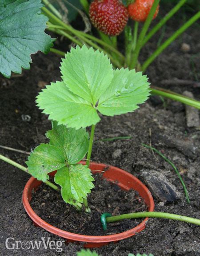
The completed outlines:
<svg viewBox="0 0 200 256">
<path fill-rule="evenodd" d="M 156 8 L 157 8 L 159 2 L 160 2 L 160 0 L 155 0 L 155 1 L 153 2 L 151 11 L 149 12 L 148 17 L 147 17 L 147 19 L 146 19 L 145 22 L 144 22 L 144 26 L 143 26 L 143 28 L 142 28 L 142 30 L 141 30 L 141 32 L 140 32 L 139 37 L 138 37 L 138 41 L 137 41 L 137 44 L 136 44 L 136 49 L 135 49 L 135 51 L 133 52 L 132 63 L 131 63 L 131 65 L 130 65 L 130 69 L 134 69 L 134 68 L 136 68 L 136 66 L 137 66 L 138 56 L 139 56 L 140 50 L 141 50 L 141 48 L 142 48 L 142 43 L 143 43 L 144 37 L 145 37 L 145 35 L 146 35 L 146 33 L 147 33 L 147 30 L 148 30 L 148 28 L 149 28 L 149 25 L 150 25 L 151 22 L 152 22 L 153 15 L 154 15 L 154 13 L 156 12 Z"/>
</svg>

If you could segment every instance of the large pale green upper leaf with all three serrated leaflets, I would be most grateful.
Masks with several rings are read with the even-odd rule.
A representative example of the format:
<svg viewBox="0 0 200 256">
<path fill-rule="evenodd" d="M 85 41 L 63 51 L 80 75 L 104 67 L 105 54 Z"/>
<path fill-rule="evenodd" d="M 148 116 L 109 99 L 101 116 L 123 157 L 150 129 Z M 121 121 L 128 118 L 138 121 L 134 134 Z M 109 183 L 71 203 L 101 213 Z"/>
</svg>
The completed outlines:
<svg viewBox="0 0 200 256">
<path fill-rule="evenodd" d="M 62 82 L 48 85 L 36 102 L 49 119 L 68 127 L 95 125 L 98 115 L 132 112 L 148 99 L 147 77 L 135 70 L 111 69 L 108 58 L 86 46 L 71 49 L 61 64 Z"/>
</svg>

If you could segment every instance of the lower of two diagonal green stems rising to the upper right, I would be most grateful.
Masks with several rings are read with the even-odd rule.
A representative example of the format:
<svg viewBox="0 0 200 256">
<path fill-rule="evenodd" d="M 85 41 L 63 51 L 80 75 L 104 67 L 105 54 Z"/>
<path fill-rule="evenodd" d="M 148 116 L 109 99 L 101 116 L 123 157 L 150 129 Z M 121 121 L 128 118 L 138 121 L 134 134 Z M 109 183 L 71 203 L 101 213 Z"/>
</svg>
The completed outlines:
<svg viewBox="0 0 200 256">
<path fill-rule="evenodd" d="M 177 37 L 180 36 L 187 28 L 189 28 L 196 20 L 200 18 L 200 12 L 197 12 L 189 19 L 181 28 L 179 28 L 171 37 L 169 37 L 156 51 L 144 62 L 142 71 L 144 72 L 148 66 L 156 59 L 156 57 L 164 51 Z"/>
</svg>

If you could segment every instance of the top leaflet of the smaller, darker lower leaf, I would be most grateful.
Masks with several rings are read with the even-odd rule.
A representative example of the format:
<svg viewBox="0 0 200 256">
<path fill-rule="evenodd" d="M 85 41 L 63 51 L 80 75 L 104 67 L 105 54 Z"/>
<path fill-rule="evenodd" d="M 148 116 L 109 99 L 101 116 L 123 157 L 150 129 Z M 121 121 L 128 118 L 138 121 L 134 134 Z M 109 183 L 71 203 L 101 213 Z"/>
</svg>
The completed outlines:
<svg viewBox="0 0 200 256">
<path fill-rule="evenodd" d="M 59 125 L 46 134 L 50 144 L 60 148 L 68 164 L 78 163 L 88 151 L 89 135 L 85 129 L 67 128 Z"/>
</svg>

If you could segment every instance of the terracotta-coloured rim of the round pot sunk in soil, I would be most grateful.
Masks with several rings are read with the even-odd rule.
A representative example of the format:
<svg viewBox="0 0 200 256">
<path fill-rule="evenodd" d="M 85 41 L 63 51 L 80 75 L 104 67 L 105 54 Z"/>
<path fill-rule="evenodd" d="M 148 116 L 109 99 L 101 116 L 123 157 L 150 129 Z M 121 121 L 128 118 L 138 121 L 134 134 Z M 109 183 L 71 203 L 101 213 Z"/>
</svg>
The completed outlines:
<svg viewBox="0 0 200 256">
<path fill-rule="evenodd" d="M 84 164 L 85 162 L 81 161 L 80 163 Z M 106 167 L 109 167 L 109 168 L 112 168 L 112 169 L 114 168 L 116 171 L 120 171 L 120 173 L 122 175 L 128 176 L 128 178 L 134 179 L 134 181 L 140 185 L 140 189 L 142 189 L 144 192 L 146 192 L 146 194 L 148 196 L 148 200 L 150 202 L 149 205 L 148 205 L 148 211 L 153 211 L 154 210 L 154 200 L 153 200 L 151 192 L 134 175 L 132 175 L 132 174 L 128 173 L 127 171 L 124 171 L 124 170 L 122 170 L 120 168 L 113 167 L 111 165 L 106 165 L 106 164 L 102 164 L 102 163 L 94 163 L 94 162 L 90 163 L 90 167 L 96 166 L 96 165 L 98 165 L 98 167 L 100 167 L 98 169 L 102 169 L 102 170 L 104 168 L 106 168 Z M 100 172 L 100 171 L 96 171 L 96 173 L 98 173 L 98 172 Z M 106 171 L 105 171 L 105 173 L 106 173 Z M 145 218 L 139 225 L 137 225 L 134 228 L 129 229 L 128 231 L 117 233 L 117 234 L 114 234 L 114 235 L 106 235 L 106 236 L 81 235 L 81 234 L 76 234 L 76 233 L 72 233 L 72 232 L 67 232 L 67 231 L 64 231 L 64 230 L 62 230 L 60 228 L 56 228 L 56 227 L 52 226 L 51 224 L 45 222 L 43 219 L 41 219 L 35 213 L 35 211 L 33 211 L 32 207 L 31 207 L 31 205 L 29 203 L 30 195 L 28 195 L 28 194 L 31 193 L 30 192 L 30 188 L 33 188 L 32 185 L 36 181 L 37 181 L 36 178 L 31 177 L 28 180 L 28 182 L 26 183 L 25 187 L 24 187 L 24 191 L 23 191 L 23 195 L 22 195 L 22 201 L 23 201 L 24 209 L 25 209 L 25 211 L 27 212 L 27 214 L 29 215 L 29 217 L 32 219 L 32 221 L 34 223 L 36 223 L 41 228 L 44 228 L 48 232 L 51 232 L 51 233 L 53 233 L 53 234 L 55 234 L 57 236 L 61 236 L 61 237 L 65 238 L 65 239 L 79 241 L 79 242 L 107 243 L 107 242 L 114 242 L 114 241 L 119 241 L 119 240 L 128 238 L 128 237 L 133 236 L 136 233 L 142 231 L 145 228 L 145 223 L 147 222 L 148 218 Z M 37 181 L 37 182 L 40 183 L 40 181 Z M 40 186 L 40 184 L 38 184 L 38 186 Z"/>
</svg>

